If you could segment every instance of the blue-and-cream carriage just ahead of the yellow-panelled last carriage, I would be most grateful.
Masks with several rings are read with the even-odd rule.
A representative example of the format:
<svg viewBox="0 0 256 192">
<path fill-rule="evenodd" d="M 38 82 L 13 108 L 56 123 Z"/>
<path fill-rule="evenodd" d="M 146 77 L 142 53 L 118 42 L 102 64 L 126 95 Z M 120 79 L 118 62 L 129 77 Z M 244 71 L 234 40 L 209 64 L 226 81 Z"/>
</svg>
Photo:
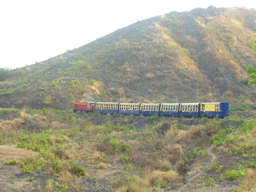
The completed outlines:
<svg viewBox="0 0 256 192">
<path fill-rule="evenodd" d="M 180 117 L 186 118 L 199 118 L 200 116 L 200 103 L 181 103 L 180 104 Z"/>
</svg>

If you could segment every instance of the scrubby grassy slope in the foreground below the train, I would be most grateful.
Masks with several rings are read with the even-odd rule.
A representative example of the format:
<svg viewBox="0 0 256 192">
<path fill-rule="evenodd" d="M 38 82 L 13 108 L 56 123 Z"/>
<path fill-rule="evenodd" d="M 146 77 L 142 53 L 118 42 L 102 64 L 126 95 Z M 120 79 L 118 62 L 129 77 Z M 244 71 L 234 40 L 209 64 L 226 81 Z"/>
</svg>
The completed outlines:
<svg viewBox="0 0 256 192">
<path fill-rule="evenodd" d="M 14 163 L 38 191 L 254 191 L 255 112 L 237 103 L 224 120 L 2 109 L 0 142 L 38 152 Z"/>
</svg>

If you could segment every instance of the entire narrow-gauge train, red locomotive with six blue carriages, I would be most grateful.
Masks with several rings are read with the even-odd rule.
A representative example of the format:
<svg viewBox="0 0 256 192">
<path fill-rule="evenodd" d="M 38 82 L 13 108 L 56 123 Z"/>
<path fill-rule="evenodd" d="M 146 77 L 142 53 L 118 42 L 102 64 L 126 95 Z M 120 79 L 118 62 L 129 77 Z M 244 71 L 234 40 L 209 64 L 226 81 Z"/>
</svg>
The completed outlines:
<svg viewBox="0 0 256 192">
<path fill-rule="evenodd" d="M 134 116 L 165 116 L 185 118 L 224 118 L 229 115 L 227 102 L 212 103 L 115 103 L 74 102 L 74 112 L 99 112 Z"/>
</svg>

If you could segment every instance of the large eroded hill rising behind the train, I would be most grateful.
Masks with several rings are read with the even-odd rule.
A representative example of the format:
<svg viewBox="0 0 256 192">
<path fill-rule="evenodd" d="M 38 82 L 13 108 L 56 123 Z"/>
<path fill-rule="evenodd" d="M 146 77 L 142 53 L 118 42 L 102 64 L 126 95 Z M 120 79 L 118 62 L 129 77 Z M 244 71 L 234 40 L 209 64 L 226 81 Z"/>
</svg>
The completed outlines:
<svg viewBox="0 0 256 192">
<path fill-rule="evenodd" d="M 255 100 L 256 10 L 197 8 L 136 22 L 75 50 L 6 72 L 0 106 L 72 109 L 75 100 Z"/>
</svg>

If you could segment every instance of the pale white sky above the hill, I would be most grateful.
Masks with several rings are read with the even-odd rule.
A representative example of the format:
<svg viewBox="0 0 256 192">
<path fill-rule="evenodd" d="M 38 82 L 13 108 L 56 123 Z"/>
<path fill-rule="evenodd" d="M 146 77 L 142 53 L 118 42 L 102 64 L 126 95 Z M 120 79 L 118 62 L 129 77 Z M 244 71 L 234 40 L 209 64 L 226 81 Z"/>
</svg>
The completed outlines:
<svg viewBox="0 0 256 192">
<path fill-rule="evenodd" d="M 1 0 L 0 68 L 35 64 L 138 21 L 208 6 L 256 8 L 256 1 Z"/>
</svg>

